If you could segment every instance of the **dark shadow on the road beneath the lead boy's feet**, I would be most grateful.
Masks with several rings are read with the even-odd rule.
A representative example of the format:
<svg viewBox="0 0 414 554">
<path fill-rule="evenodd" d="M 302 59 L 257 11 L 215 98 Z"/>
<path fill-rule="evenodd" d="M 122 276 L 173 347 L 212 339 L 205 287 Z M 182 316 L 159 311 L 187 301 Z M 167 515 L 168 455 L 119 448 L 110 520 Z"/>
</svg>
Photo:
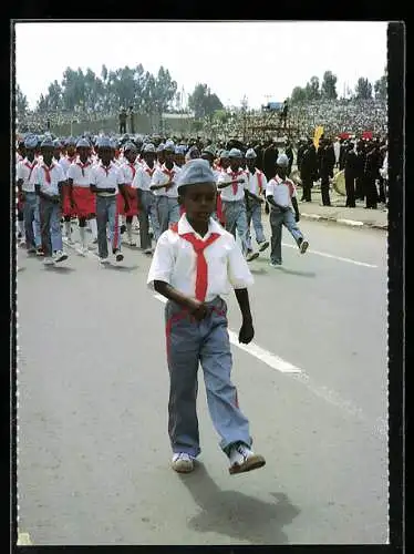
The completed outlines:
<svg viewBox="0 0 414 554">
<path fill-rule="evenodd" d="M 263 470 L 266 471 L 266 470 Z M 179 474 L 201 512 L 187 525 L 197 532 L 215 532 L 248 541 L 251 544 L 289 544 L 282 527 L 288 525 L 300 510 L 293 506 L 286 494 L 270 493 L 275 501 L 263 502 L 238 491 L 222 491 L 213 481 L 201 463 L 194 473 Z M 246 475 L 229 476 L 242 479 Z"/>
</svg>

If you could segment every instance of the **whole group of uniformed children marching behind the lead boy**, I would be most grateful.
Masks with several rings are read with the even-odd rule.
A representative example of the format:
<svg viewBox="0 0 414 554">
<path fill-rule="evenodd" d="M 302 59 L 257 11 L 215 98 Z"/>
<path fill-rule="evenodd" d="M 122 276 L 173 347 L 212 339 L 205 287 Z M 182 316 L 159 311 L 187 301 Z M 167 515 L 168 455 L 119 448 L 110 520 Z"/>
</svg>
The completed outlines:
<svg viewBox="0 0 414 554">
<path fill-rule="evenodd" d="M 153 239 L 156 242 L 183 214 L 178 204 L 179 174 L 186 162 L 197 157 L 208 161 L 216 177 L 214 217 L 235 237 L 238 234 L 247 261 L 269 247 L 261 222 L 265 197 L 271 206 L 271 266 L 282 263 L 282 225 L 301 253 L 308 248 L 297 225 L 298 202 L 294 185 L 287 178 L 289 162 L 284 154 L 278 157 L 275 177 L 267 182 L 256 167 L 252 148 L 246 154 L 238 148 L 216 153 L 209 145 L 199 152 L 195 146 L 187 150 L 166 141 L 158 146 L 145 142 L 139 150 L 128 142 L 117 151 L 117 144 L 106 136 L 95 144 L 84 137 L 69 137 L 62 144 L 49 137 L 40 143 L 37 136 L 28 135 L 19 144 L 17 164 L 18 219 L 28 254 L 43 256 L 48 265 L 65 260 L 63 235 L 70 245 L 74 244 L 75 217 L 80 254 L 97 246 L 101 264 L 110 261 L 110 254 L 121 263 L 124 232 L 126 244 L 136 246 L 136 218 L 139 246 L 151 256 Z M 252 247 L 251 224 L 257 252 Z"/>
</svg>

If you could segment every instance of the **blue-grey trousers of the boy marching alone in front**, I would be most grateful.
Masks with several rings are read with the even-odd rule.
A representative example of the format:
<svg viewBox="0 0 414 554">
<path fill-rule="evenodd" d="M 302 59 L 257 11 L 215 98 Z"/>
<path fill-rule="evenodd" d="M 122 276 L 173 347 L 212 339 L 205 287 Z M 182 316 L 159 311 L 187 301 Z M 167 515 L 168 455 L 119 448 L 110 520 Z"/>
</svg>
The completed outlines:
<svg viewBox="0 0 414 554">
<path fill-rule="evenodd" d="M 220 447 L 241 441 L 251 445 L 249 422 L 238 407 L 230 380 L 231 351 L 227 331 L 227 305 L 217 297 L 208 302 L 209 315 L 196 321 L 175 302 L 165 307 L 169 370 L 168 434 L 173 452 L 200 453 L 197 402 L 197 371 L 201 365 L 207 404 Z"/>
</svg>

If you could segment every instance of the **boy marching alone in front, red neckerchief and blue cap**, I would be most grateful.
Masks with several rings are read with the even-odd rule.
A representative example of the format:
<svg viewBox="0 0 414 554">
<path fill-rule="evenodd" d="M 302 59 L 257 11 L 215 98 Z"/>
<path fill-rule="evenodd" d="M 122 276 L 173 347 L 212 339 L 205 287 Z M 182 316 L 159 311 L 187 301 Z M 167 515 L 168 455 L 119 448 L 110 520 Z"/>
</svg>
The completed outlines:
<svg viewBox="0 0 414 554">
<path fill-rule="evenodd" d="M 253 278 L 235 237 L 216 223 L 215 175 L 208 162 L 193 160 L 178 179 L 185 214 L 164 232 L 156 245 L 147 284 L 168 302 L 165 308 L 169 370 L 168 433 L 172 466 L 188 473 L 200 453 L 197 370 L 204 371 L 207 402 L 230 474 L 265 465 L 251 450 L 249 422 L 239 409 L 231 383 L 231 351 L 227 305 L 221 298 L 235 289 L 242 316 L 239 341 L 253 336 L 247 287 Z"/>
</svg>

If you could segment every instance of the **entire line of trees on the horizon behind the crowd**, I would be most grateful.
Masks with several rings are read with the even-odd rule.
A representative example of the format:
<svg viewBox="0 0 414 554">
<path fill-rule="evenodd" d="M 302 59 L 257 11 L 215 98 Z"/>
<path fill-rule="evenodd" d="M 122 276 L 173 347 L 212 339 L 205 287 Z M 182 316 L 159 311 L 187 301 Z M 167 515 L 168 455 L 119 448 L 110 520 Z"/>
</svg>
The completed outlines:
<svg viewBox="0 0 414 554">
<path fill-rule="evenodd" d="M 322 82 L 318 76 L 312 76 L 304 86 L 296 86 L 289 100 L 291 103 L 334 100 L 338 98 L 337 81 L 332 71 L 325 71 Z M 386 69 L 374 85 L 368 79 L 360 78 L 354 91 L 348 90 L 346 95 L 368 100 L 373 98 L 373 92 L 375 99 L 386 100 Z M 24 115 L 28 112 L 28 101 L 19 85 L 15 95 L 18 115 Z M 183 101 L 177 92 L 177 82 L 163 66 L 156 75 L 144 71 L 141 63 L 135 68 L 126 65 L 116 70 L 102 65 L 99 75 L 91 69 L 83 71 L 81 68 L 66 68 L 61 82 L 54 80 L 49 84 L 46 93 L 40 95 L 34 112 L 42 114 L 62 110 L 104 114 L 117 112 L 121 106 L 132 106 L 137 113 L 161 116 L 165 112 L 183 112 Z M 182 106 L 180 110 L 178 106 Z M 188 109 L 197 120 L 226 117 L 221 100 L 206 83 L 196 84 L 188 96 Z"/>
</svg>

